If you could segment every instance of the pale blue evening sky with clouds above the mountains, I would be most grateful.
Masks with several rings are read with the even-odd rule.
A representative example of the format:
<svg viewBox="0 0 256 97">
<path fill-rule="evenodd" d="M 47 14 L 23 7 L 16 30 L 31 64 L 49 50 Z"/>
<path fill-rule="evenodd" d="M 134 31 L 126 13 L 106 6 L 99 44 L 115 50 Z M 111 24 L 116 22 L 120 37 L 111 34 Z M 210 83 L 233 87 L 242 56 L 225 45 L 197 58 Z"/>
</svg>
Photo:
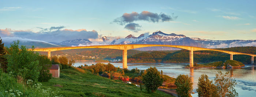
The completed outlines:
<svg viewBox="0 0 256 97">
<path fill-rule="evenodd" d="M 46 42 L 162 31 L 255 40 L 255 0 L 0 0 L 0 36 Z"/>
</svg>

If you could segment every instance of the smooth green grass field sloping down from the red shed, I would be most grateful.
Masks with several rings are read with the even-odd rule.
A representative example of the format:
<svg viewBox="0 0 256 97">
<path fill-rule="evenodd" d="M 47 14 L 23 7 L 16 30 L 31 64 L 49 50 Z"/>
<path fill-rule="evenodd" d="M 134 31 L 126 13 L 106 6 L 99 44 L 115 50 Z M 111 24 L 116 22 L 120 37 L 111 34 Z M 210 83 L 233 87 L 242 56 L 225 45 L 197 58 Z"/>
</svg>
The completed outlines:
<svg viewBox="0 0 256 97">
<path fill-rule="evenodd" d="M 60 87 L 59 87 L 60 86 Z M 78 70 L 65 69 L 60 71 L 60 78 L 52 78 L 49 82 L 42 82 L 42 88 L 60 89 L 60 94 L 65 97 L 81 96 L 106 96 L 106 97 L 167 97 L 159 90 L 155 93 L 147 93 L 146 89 L 125 84 L 120 80 L 112 80 L 99 75 L 92 74 L 90 71 L 81 73 Z"/>
</svg>

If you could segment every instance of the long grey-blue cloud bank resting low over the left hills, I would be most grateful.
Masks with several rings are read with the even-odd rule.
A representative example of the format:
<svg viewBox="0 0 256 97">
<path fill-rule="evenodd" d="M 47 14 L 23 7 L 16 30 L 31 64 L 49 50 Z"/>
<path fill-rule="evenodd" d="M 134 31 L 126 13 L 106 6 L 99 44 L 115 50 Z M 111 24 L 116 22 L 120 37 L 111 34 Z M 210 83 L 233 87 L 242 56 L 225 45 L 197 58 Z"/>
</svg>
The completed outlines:
<svg viewBox="0 0 256 97">
<path fill-rule="evenodd" d="M 40 27 L 38 27 L 40 28 Z M 64 26 L 59 27 L 50 27 L 50 28 L 40 28 L 41 31 L 33 32 L 31 30 L 11 30 L 6 28 L 5 30 L 0 29 L 0 35 L 3 37 L 19 37 L 19 38 L 27 38 L 34 40 L 41 40 L 46 42 L 63 42 L 66 40 L 74 40 L 74 39 L 89 39 L 89 38 L 98 38 L 98 32 L 87 31 L 85 29 L 80 30 L 61 30 Z"/>
</svg>

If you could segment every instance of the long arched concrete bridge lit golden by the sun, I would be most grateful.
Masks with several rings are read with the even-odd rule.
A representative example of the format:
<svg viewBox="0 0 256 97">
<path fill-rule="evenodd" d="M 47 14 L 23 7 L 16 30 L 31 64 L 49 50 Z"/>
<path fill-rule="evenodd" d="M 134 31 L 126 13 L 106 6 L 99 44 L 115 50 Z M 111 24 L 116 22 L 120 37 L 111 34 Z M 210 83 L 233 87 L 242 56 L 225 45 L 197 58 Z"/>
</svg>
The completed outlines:
<svg viewBox="0 0 256 97">
<path fill-rule="evenodd" d="M 222 53 L 230 54 L 230 60 L 233 60 L 233 55 L 249 55 L 252 57 L 252 64 L 254 62 L 253 58 L 256 56 L 255 54 L 246 54 L 246 53 L 239 53 L 239 52 L 234 52 L 234 51 L 207 49 L 207 48 L 202 48 L 202 47 L 178 46 L 178 45 L 159 45 L 159 44 L 117 44 L 117 45 L 99 45 L 99 46 L 49 47 L 49 48 L 37 48 L 37 49 L 34 49 L 34 51 L 46 51 L 46 52 L 48 52 L 48 57 L 50 58 L 51 51 L 60 51 L 60 50 L 89 49 L 89 48 L 123 50 L 123 69 L 124 69 L 124 68 L 127 68 L 127 50 L 141 48 L 141 47 L 174 47 L 174 48 L 189 50 L 189 66 L 190 67 L 193 67 L 193 51 L 200 51 L 200 50 L 219 51 Z"/>
</svg>

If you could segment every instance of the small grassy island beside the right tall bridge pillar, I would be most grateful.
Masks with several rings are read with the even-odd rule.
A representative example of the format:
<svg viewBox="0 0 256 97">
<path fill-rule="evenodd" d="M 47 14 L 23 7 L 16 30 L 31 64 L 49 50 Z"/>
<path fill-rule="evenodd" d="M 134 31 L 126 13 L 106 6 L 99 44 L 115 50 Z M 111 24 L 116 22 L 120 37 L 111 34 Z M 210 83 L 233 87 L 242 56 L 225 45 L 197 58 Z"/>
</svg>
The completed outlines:
<svg viewBox="0 0 256 97">
<path fill-rule="evenodd" d="M 210 62 L 197 64 L 195 63 L 193 67 L 185 67 L 185 68 L 240 68 L 245 65 L 242 62 L 236 60 L 226 60 L 226 61 L 218 61 L 218 62 Z"/>
</svg>

